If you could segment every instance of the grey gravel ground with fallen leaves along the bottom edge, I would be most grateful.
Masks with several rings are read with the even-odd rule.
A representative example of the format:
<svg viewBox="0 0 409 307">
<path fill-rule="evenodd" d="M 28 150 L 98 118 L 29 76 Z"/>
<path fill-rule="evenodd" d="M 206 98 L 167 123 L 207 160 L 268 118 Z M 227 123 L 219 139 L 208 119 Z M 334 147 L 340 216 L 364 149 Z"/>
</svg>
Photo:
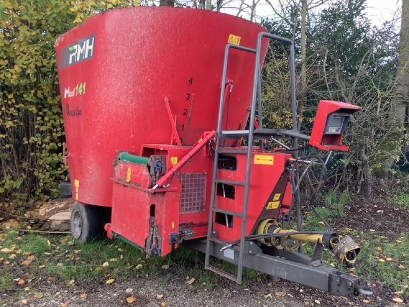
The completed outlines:
<svg viewBox="0 0 409 307">
<path fill-rule="evenodd" d="M 245 288 L 229 283 L 228 289 L 207 289 L 198 284 L 188 284 L 181 279 L 154 279 L 154 277 L 133 279 L 106 284 L 88 284 L 85 287 L 74 287 L 67 290 L 58 284 L 37 287 L 30 292 L 18 291 L 2 294 L 3 306 L 305 306 L 304 301 L 286 293 L 284 297 L 275 295 L 278 288 L 266 286 L 264 292 L 254 287 Z M 271 286 L 271 285 L 270 285 Z M 127 293 L 126 289 L 133 291 Z M 265 298 L 270 288 L 271 298 Z M 281 288 L 281 287 L 279 287 Z M 86 289 L 86 291 L 84 291 Z M 283 288 L 284 289 L 284 288 Z M 281 289 L 281 290 L 283 290 Z M 128 289 L 129 290 L 129 289 Z M 35 291 L 44 296 L 36 298 Z M 84 295 L 85 294 L 85 295 Z M 163 297 L 161 297 L 163 295 Z M 128 303 L 126 299 L 133 296 L 136 300 Z M 159 297 L 158 297 L 159 296 Z M 22 301 L 22 300 L 27 301 Z"/>
</svg>

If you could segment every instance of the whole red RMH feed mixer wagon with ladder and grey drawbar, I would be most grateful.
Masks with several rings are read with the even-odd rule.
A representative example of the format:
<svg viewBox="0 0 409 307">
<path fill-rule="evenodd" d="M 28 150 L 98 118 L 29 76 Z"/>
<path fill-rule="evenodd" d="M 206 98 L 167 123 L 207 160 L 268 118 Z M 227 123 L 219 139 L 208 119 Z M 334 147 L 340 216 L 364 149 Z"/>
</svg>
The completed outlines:
<svg viewBox="0 0 409 307">
<path fill-rule="evenodd" d="M 320 101 L 311 137 L 263 127 L 260 72 L 273 40 L 289 50 L 297 127 L 293 43 L 244 19 L 119 9 L 57 39 L 79 243 L 105 229 L 148 257 L 181 244 L 202 251 L 206 269 L 238 283 L 247 267 L 337 295 L 371 294 L 321 261 L 328 249 L 352 270 L 359 247 L 351 237 L 301 229 L 300 180 L 325 164 L 299 157 L 298 141 L 348 150 L 342 140 L 360 107 Z M 297 230 L 288 227 L 293 212 Z M 299 252 L 304 242 L 315 244 L 312 257 Z M 237 274 L 214 258 L 237 265 Z"/>
</svg>

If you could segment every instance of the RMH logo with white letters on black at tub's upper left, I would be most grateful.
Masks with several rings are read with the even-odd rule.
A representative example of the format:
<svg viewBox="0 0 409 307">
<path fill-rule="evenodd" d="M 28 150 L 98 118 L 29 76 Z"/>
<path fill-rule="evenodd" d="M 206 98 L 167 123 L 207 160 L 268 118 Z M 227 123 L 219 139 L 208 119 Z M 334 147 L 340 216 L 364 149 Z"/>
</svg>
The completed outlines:
<svg viewBox="0 0 409 307">
<path fill-rule="evenodd" d="M 64 67 L 93 58 L 95 40 L 95 36 L 90 36 L 65 49 Z"/>
</svg>

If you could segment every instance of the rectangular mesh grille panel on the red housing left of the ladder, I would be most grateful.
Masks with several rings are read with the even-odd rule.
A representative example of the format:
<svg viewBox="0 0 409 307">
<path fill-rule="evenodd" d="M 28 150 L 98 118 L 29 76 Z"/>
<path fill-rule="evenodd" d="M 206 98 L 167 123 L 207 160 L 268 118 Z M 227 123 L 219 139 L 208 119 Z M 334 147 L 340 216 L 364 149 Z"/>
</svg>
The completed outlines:
<svg viewBox="0 0 409 307">
<path fill-rule="evenodd" d="M 205 211 L 206 174 L 178 174 L 177 177 L 182 185 L 179 212 L 192 213 Z"/>
</svg>

